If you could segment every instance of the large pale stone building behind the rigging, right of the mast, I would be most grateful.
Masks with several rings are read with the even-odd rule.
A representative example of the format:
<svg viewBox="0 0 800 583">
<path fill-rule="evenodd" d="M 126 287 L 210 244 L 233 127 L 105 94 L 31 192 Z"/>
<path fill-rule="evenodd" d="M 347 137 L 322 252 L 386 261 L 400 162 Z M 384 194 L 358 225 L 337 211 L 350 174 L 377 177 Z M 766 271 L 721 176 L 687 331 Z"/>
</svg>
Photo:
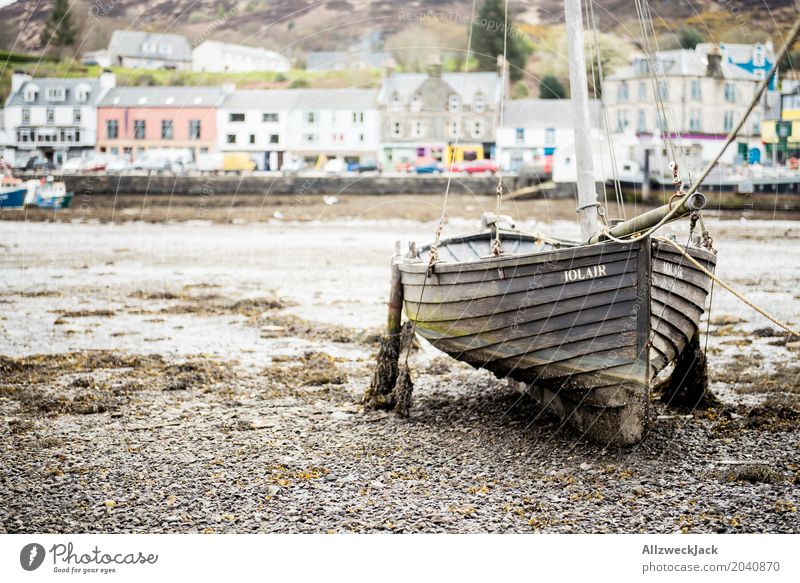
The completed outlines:
<svg viewBox="0 0 800 583">
<path fill-rule="evenodd" d="M 612 131 L 635 133 L 645 155 L 652 158 L 642 164 L 660 172 L 665 171 L 670 157 L 665 138 L 672 136 L 682 151 L 695 153 L 694 167 L 684 170 L 697 170 L 717 154 L 744 115 L 761 76 L 726 61 L 717 51 L 661 51 L 656 53 L 655 63 L 655 76 L 648 59 L 640 56 L 606 78 L 603 95 Z M 749 116 L 735 147 L 728 149 L 721 163 L 760 159 L 761 122 L 767 109 L 758 107 Z"/>
</svg>

